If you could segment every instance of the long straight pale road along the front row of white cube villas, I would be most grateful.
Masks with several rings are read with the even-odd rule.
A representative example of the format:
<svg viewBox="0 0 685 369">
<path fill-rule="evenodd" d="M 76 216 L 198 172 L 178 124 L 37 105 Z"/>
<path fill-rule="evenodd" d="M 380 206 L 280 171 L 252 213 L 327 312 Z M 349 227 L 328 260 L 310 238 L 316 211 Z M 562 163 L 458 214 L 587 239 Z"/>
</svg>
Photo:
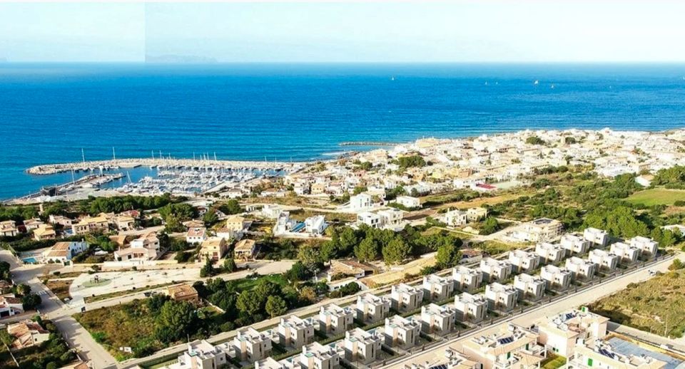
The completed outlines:
<svg viewBox="0 0 685 369">
<path fill-rule="evenodd" d="M 685 259 L 684 255 L 680 254 L 679 259 Z M 497 333 L 500 329 L 502 329 L 502 326 L 505 323 L 509 322 L 516 323 L 521 326 L 531 326 L 534 323 L 539 323 L 540 321 L 544 321 L 546 317 L 554 316 L 557 313 L 562 313 L 563 311 L 567 311 L 577 306 L 592 303 L 593 301 L 597 301 L 597 299 L 599 298 L 608 296 L 617 291 L 621 291 L 625 289 L 626 286 L 628 286 L 628 284 L 646 281 L 647 279 L 651 278 L 651 276 L 649 275 L 649 270 L 667 271 L 669 265 L 671 265 L 672 262 L 673 259 L 665 259 L 659 261 L 656 264 L 651 264 L 649 268 L 639 269 L 638 271 L 633 271 L 629 274 L 625 274 L 624 276 L 619 276 L 612 281 L 607 281 L 606 283 L 598 284 L 596 286 L 591 287 L 590 289 L 568 296 L 567 298 L 562 298 L 558 301 L 554 301 L 553 303 L 540 306 L 539 308 L 535 308 L 531 311 L 528 311 L 527 313 L 523 313 L 521 315 L 509 318 L 507 319 L 507 321 L 499 322 L 494 326 L 482 328 L 481 330 L 469 333 L 466 336 L 456 338 L 452 341 L 447 341 L 445 343 L 442 343 L 441 345 L 437 345 L 433 348 L 430 348 L 430 350 L 427 350 L 425 352 L 415 353 L 414 355 L 408 355 L 406 358 L 402 358 L 402 360 L 392 363 L 385 368 L 404 369 L 405 365 L 411 363 L 444 362 L 445 349 L 454 348 L 455 350 L 461 352 L 462 342 L 464 342 L 467 339 L 470 339 L 475 336 L 488 336 L 490 334 Z"/>
</svg>

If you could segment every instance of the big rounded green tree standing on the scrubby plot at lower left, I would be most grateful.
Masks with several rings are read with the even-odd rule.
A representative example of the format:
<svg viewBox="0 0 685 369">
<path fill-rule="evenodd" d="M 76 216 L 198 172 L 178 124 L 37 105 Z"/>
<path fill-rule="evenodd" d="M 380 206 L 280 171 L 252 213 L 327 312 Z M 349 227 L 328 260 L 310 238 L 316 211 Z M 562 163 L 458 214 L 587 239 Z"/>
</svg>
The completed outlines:
<svg viewBox="0 0 685 369">
<path fill-rule="evenodd" d="M 191 303 L 166 301 L 156 319 L 155 336 L 164 343 L 186 339 L 197 323 L 198 317 Z"/>
</svg>

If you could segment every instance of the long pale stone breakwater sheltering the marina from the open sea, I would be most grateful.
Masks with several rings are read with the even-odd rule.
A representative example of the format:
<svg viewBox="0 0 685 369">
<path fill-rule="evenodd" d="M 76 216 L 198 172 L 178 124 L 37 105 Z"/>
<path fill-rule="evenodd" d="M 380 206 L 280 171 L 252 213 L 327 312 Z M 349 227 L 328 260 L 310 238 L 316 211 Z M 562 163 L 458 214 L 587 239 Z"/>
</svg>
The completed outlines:
<svg viewBox="0 0 685 369">
<path fill-rule="evenodd" d="M 54 175 L 63 172 L 116 170 L 120 168 L 135 168 L 141 166 L 158 168 L 200 168 L 213 167 L 217 169 L 244 169 L 244 170 L 285 170 L 292 172 L 300 170 L 303 162 L 256 162 L 256 161 L 232 161 L 232 160 L 193 160 L 193 159 L 116 159 L 96 160 L 83 162 L 68 162 L 61 164 L 36 165 L 26 170 L 31 175 Z"/>
</svg>

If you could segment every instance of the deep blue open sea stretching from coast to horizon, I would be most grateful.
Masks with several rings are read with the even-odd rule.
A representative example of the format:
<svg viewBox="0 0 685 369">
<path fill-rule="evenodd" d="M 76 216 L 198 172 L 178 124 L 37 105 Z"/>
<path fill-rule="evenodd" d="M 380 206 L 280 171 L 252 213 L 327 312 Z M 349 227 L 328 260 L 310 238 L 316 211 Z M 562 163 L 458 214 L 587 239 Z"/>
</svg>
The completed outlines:
<svg viewBox="0 0 685 369">
<path fill-rule="evenodd" d="M 320 160 L 525 129 L 685 127 L 685 64 L 0 63 L 0 199 L 116 157 Z M 148 175 L 145 170 L 136 177 Z"/>
</svg>

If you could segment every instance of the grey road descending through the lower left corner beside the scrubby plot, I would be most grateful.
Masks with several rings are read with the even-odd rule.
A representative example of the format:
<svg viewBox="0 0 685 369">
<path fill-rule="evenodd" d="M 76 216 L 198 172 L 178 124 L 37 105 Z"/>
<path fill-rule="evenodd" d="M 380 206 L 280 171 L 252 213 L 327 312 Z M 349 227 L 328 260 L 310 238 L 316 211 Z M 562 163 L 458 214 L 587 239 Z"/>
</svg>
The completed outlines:
<svg viewBox="0 0 685 369">
<path fill-rule="evenodd" d="M 11 265 L 12 278 L 15 283 L 28 284 L 31 286 L 31 291 L 41 295 L 43 299 L 40 307 L 41 314 L 55 323 L 57 329 L 65 336 L 68 345 L 78 350 L 81 358 L 97 363 L 95 368 L 106 368 L 116 363 L 112 355 L 101 345 L 98 345 L 88 331 L 71 317 L 71 313 L 68 313 L 59 298 L 39 281 L 38 277 L 43 272 L 41 266 L 19 266 L 14 257 L 6 250 L 0 250 L 0 259 L 9 262 Z"/>
</svg>

